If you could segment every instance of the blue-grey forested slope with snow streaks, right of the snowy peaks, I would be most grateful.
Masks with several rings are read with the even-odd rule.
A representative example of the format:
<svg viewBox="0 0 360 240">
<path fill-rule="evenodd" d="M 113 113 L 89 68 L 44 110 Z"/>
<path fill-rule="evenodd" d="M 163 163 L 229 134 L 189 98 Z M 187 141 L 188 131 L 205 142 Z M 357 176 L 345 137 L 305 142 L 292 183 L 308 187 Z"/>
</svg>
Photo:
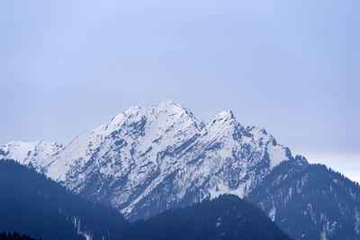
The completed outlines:
<svg viewBox="0 0 360 240">
<path fill-rule="evenodd" d="M 280 164 L 247 200 L 295 239 L 360 239 L 360 187 L 325 165 Z"/>
</svg>

